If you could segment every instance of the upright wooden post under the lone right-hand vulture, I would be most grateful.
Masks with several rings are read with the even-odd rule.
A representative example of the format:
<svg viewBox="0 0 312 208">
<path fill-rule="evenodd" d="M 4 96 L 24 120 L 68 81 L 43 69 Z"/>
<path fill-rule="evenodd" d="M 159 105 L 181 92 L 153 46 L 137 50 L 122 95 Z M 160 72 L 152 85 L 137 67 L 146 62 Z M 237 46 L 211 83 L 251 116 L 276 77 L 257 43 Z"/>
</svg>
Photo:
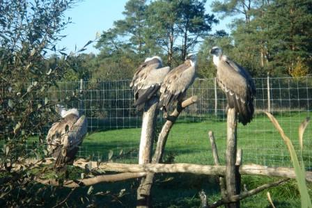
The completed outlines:
<svg viewBox="0 0 312 208">
<path fill-rule="evenodd" d="M 240 193 L 239 172 L 235 166 L 237 149 L 237 119 L 235 109 L 228 109 L 227 113 L 227 145 L 226 145 L 226 195 L 231 198 Z M 227 207 L 238 208 L 240 202 L 229 203 Z"/>
</svg>

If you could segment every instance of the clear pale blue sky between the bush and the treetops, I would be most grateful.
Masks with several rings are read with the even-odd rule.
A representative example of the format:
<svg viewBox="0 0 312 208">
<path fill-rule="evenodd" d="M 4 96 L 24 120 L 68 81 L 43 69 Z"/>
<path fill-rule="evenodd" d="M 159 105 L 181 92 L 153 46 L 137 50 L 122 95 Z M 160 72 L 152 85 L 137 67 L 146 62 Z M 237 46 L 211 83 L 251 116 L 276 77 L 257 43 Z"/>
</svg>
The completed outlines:
<svg viewBox="0 0 312 208">
<path fill-rule="evenodd" d="M 96 33 L 102 33 L 113 26 L 114 21 L 123 19 L 123 10 L 127 0 L 85 0 L 77 3 L 77 6 L 71 8 L 65 13 L 65 17 L 72 18 L 72 24 L 69 24 L 63 31 L 67 35 L 59 42 L 59 48 L 66 47 L 68 52 L 75 51 L 83 47 L 88 40 L 94 40 Z M 210 3 L 206 3 L 206 10 L 210 13 Z M 229 30 L 226 27 L 228 19 L 220 20 L 220 24 L 214 26 L 213 31 L 217 29 Z M 98 50 L 93 45 L 88 45 L 86 53 L 98 54 Z"/>
</svg>

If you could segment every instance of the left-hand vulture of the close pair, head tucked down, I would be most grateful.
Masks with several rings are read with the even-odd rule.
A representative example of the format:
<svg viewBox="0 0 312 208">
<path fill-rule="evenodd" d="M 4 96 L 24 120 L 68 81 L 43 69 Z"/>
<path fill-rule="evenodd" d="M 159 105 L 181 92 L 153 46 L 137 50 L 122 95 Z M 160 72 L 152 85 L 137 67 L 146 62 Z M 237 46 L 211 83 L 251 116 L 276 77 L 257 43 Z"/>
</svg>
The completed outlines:
<svg viewBox="0 0 312 208">
<path fill-rule="evenodd" d="M 153 56 L 146 58 L 137 71 L 130 83 L 130 88 L 134 90 L 134 106 L 141 110 L 144 104 L 157 94 L 162 81 L 168 74 L 170 67 L 162 67 L 162 58 Z"/>
</svg>

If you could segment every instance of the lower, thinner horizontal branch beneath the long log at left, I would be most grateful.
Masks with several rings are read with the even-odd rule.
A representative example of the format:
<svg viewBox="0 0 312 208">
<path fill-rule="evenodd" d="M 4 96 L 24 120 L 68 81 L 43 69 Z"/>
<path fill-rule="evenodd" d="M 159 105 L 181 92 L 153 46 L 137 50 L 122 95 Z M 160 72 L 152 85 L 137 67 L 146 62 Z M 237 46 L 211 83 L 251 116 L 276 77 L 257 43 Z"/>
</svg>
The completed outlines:
<svg viewBox="0 0 312 208">
<path fill-rule="evenodd" d="M 115 175 L 98 175 L 91 178 L 86 179 L 77 179 L 77 180 L 69 180 L 63 183 L 63 186 L 68 188 L 76 188 L 79 186 L 92 186 L 94 184 L 102 183 L 102 182 L 119 182 L 126 179 L 133 179 L 138 177 L 146 176 L 146 173 L 119 173 Z M 56 179 L 36 179 L 36 182 L 40 184 L 59 186 L 59 182 Z"/>
</svg>

